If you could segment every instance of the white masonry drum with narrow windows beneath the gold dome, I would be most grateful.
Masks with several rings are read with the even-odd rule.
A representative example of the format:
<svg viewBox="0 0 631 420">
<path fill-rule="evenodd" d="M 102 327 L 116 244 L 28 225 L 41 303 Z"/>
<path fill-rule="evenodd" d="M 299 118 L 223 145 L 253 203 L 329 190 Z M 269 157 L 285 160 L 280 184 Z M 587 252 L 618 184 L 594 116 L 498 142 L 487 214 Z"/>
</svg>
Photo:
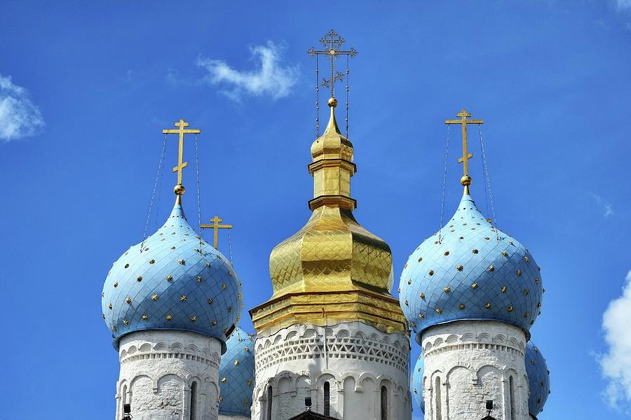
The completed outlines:
<svg viewBox="0 0 631 420">
<path fill-rule="evenodd" d="M 325 346 L 326 342 L 326 346 Z M 252 420 L 271 420 L 304 412 L 311 397 L 324 413 L 324 384 L 330 386 L 330 416 L 344 420 L 381 420 L 381 387 L 386 387 L 388 420 L 410 420 L 409 337 L 387 334 L 361 322 L 326 328 L 292 325 L 259 332 L 255 342 L 256 387 Z"/>
</svg>

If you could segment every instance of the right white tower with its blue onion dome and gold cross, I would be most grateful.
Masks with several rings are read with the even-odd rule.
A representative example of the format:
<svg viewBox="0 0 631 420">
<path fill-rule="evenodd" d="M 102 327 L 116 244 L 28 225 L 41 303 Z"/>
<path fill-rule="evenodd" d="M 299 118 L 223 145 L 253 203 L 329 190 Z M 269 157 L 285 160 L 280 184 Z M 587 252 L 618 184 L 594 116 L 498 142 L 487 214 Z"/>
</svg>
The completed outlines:
<svg viewBox="0 0 631 420">
<path fill-rule="evenodd" d="M 400 304 L 423 352 L 426 420 L 482 419 L 487 400 L 498 420 L 529 420 L 524 360 L 529 328 L 541 307 L 540 269 L 527 248 L 498 230 L 469 195 L 466 120 L 463 124 L 464 194 L 456 213 L 409 256 Z M 419 389 L 421 388 L 421 389 Z M 531 405 L 531 407 L 533 407 Z M 543 405 L 541 405 L 543 407 Z"/>
</svg>

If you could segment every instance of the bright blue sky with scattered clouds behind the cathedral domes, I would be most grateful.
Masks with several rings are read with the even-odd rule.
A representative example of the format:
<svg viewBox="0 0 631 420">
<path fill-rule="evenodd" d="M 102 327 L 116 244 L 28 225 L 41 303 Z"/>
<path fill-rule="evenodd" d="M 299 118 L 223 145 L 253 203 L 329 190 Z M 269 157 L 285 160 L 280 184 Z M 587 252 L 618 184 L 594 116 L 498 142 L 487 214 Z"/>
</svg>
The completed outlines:
<svg viewBox="0 0 631 420">
<path fill-rule="evenodd" d="M 1 419 L 113 418 L 118 361 L 100 292 L 142 239 L 161 130 L 179 118 L 202 130 L 202 217 L 235 225 L 246 309 L 271 295 L 269 252 L 309 215 L 306 50 L 331 27 L 359 51 L 355 216 L 391 245 L 396 283 L 438 228 L 443 121 L 464 106 L 485 121 L 498 227 L 542 267 L 531 332 L 552 394 L 539 419 L 630 418 L 630 1 L 4 0 L 0 16 Z M 446 218 L 461 195 L 458 134 Z M 471 137 L 472 194 L 485 209 Z M 196 224 L 192 141 L 185 153 Z M 175 161 L 174 137 L 165 165 Z M 150 231 L 174 184 L 165 172 Z M 242 327 L 252 331 L 245 311 Z"/>
</svg>

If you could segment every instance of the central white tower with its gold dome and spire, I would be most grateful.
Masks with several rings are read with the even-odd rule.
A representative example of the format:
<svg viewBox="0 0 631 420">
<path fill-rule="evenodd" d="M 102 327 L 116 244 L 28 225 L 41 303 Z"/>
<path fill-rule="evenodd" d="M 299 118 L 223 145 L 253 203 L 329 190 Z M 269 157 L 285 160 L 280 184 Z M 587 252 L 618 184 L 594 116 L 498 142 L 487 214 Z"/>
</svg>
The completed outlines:
<svg viewBox="0 0 631 420">
<path fill-rule="evenodd" d="M 353 145 L 330 121 L 311 146 L 313 211 L 270 255 L 274 294 L 250 311 L 257 332 L 252 419 L 312 410 L 344 420 L 409 420 L 409 337 L 392 297 L 386 242 L 353 217 Z"/>
</svg>

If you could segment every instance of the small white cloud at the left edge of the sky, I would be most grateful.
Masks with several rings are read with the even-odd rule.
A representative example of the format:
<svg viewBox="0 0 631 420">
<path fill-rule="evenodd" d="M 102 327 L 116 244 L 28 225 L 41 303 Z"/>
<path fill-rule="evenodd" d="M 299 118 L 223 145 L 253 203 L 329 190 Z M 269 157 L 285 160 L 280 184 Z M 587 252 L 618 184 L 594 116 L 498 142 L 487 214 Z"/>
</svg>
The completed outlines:
<svg viewBox="0 0 631 420">
<path fill-rule="evenodd" d="M 29 92 L 0 74 L 0 141 L 11 141 L 41 132 L 44 122 Z"/>
</svg>

